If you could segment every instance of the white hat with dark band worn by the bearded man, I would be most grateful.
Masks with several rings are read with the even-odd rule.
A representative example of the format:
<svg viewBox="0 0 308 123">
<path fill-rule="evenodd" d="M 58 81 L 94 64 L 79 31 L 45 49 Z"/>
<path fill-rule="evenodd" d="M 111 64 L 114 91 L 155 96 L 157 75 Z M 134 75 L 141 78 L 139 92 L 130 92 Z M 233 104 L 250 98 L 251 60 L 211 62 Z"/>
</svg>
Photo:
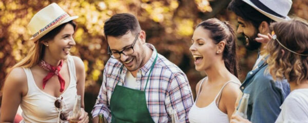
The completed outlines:
<svg viewBox="0 0 308 123">
<path fill-rule="evenodd" d="M 283 20 L 290 20 L 287 13 L 292 6 L 291 0 L 242 0 L 248 5 L 254 7 L 256 10 L 265 16 L 281 22 Z"/>
</svg>

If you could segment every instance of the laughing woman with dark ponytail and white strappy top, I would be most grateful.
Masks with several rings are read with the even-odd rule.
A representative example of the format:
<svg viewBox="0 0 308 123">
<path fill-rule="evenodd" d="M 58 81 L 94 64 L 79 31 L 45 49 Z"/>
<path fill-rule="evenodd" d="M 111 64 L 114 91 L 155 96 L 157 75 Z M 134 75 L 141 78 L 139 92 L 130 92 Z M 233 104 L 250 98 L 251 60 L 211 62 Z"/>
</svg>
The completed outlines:
<svg viewBox="0 0 308 123">
<path fill-rule="evenodd" d="M 196 70 L 207 75 L 196 86 L 197 98 L 189 121 L 229 122 L 241 94 L 233 28 L 216 18 L 207 19 L 197 26 L 189 50 Z"/>
</svg>

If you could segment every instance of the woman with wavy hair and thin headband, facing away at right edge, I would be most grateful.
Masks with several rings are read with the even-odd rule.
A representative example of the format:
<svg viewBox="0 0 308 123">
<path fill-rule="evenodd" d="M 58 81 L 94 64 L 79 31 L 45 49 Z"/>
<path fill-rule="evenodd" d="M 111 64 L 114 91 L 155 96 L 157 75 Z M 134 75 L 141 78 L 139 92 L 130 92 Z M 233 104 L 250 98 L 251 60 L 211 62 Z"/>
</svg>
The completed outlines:
<svg viewBox="0 0 308 123">
<path fill-rule="evenodd" d="M 267 44 L 268 71 L 275 80 L 287 79 L 291 93 L 283 101 L 275 122 L 308 121 L 308 23 L 300 18 L 271 25 Z"/>
</svg>

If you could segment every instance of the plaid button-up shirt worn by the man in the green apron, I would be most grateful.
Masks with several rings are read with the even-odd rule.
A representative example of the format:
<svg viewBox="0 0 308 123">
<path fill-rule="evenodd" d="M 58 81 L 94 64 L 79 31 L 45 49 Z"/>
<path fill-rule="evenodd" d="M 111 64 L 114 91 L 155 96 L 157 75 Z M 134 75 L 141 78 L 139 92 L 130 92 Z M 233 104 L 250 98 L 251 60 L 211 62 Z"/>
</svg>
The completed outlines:
<svg viewBox="0 0 308 123">
<path fill-rule="evenodd" d="M 136 82 L 139 87 L 136 89 L 138 90 L 144 90 L 151 65 L 158 54 L 153 45 L 147 44 L 147 46 L 153 50 L 153 53 L 147 63 L 137 72 Z M 117 59 L 110 58 L 107 61 L 100 93 L 91 112 L 92 117 L 102 113 L 111 122 L 110 98 L 119 80 L 119 85 L 124 85 L 127 72 L 127 68 L 123 67 L 120 73 L 122 66 L 123 64 Z M 188 111 L 194 104 L 194 100 L 187 77 L 180 68 L 160 54 L 149 77 L 145 95 L 153 121 L 170 122 L 169 110 L 174 109 L 177 111 L 179 122 L 189 122 Z"/>
</svg>

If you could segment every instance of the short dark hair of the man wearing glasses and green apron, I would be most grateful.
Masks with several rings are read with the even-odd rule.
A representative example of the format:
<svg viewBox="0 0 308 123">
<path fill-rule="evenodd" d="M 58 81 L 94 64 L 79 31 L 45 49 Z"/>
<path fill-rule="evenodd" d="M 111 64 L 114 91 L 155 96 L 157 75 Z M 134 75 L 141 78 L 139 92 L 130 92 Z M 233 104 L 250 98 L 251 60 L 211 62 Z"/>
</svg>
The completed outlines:
<svg viewBox="0 0 308 123">
<path fill-rule="evenodd" d="M 141 30 L 137 18 L 129 13 L 115 14 L 104 25 L 105 36 L 119 37 L 127 32 L 137 34 Z"/>
</svg>

